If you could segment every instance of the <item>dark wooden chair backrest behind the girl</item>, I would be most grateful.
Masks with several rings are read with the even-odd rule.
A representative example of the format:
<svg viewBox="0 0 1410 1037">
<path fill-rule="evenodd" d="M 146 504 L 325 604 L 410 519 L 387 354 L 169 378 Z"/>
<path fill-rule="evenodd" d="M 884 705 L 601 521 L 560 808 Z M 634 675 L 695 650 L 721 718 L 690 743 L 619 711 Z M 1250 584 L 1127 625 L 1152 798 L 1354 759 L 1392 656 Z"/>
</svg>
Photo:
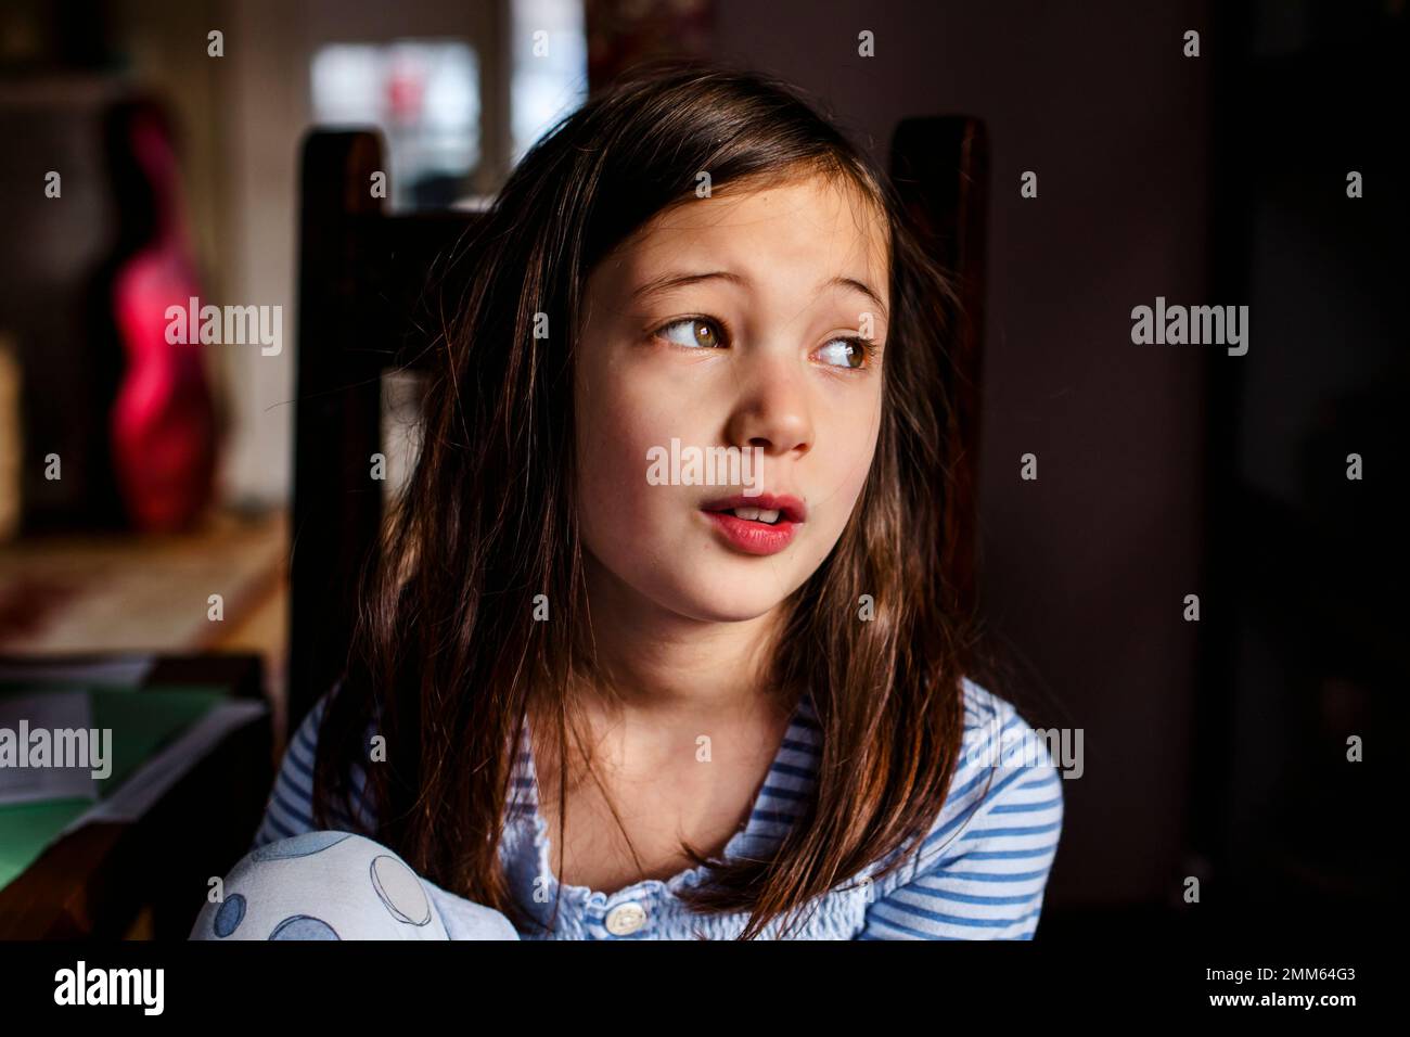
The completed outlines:
<svg viewBox="0 0 1410 1037">
<path fill-rule="evenodd" d="M 303 142 L 299 360 L 295 413 L 288 732 L 347 666 L 355 580 L 384 516 L 382 372 L 415 370 L 427 344 L 424 303 L 460 298 L 472 271 L 446 264 L 479 214 L 389 214 L 371 190 L 386 169 L 371 131 L 313 130 Z M 955 279 L 960 309 L 946 378 L 955 406 L 946 459 L 956 497 L 945 509 L 946 571 L 959 608 L 976 595 L 976 473 L 983 343 L 987 144 L 963 116 L 904 120 L 891 172 L 922 244 Z M 461 264 L 462 265 L 462 264 Z"/>
</svg>

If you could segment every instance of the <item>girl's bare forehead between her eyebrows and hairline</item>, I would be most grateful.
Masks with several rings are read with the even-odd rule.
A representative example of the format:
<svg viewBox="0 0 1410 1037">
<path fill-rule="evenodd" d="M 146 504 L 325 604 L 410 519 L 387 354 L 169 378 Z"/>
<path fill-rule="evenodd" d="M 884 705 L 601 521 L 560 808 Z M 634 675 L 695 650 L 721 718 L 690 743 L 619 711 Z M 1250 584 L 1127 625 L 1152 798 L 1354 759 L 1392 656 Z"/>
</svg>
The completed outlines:
<svg viewBox="0 0 1410 1037">
<path fill-rule="evenodd" d="M 725 185 L 649 220 L 602 265 L 599 285 L 630 291 L 667 265 L 725 267 L 760 284 L 850 277 L 887 298 L 890 237 L 874 203 L 822 175 Z"/>
</svg>

